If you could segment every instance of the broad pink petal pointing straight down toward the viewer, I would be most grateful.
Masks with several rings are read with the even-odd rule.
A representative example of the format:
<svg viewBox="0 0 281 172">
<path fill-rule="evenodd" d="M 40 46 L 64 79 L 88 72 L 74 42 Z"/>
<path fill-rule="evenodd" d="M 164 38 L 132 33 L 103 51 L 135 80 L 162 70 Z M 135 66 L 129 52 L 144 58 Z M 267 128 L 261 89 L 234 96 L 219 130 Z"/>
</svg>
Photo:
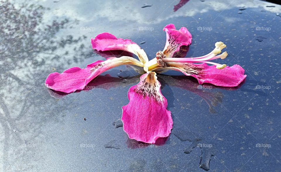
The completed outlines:
<svg viewBox="0 0 281 172">
<path fill-rule="evenodd" d="M 171 133 L 173 121 L 167 100 L 160 91 L 156 73 L 140 77 L 140 82 L 128 91 L 128 105 L 122 107 L 124 131 L 129 138 L 153 144 L 160 137 Z"/>
</svg>

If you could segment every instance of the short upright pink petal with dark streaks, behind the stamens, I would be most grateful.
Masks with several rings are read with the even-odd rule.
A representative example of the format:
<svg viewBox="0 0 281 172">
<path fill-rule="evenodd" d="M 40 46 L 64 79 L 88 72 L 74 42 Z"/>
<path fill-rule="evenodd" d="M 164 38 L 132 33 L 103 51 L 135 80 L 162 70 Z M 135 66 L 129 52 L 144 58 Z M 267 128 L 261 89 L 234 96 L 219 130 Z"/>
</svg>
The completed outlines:
<svg viewBox="0 0 281 172">
<path fill-rule="evenodd" d="M 180 46 L 191 44 L 191 34 L 185 27 L 176 30 L 173 24 L 164 27 L 166 32 L 166 45 L 163 50 L 167 58 L 172 58 L 174 53 L 179 51 Z"/>
</svg>

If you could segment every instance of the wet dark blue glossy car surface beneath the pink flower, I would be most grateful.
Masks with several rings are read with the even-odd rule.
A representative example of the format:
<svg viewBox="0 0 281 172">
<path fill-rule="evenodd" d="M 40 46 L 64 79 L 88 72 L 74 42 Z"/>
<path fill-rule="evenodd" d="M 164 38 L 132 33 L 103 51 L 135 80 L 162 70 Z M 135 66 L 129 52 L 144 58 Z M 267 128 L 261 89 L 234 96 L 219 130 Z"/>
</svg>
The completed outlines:
<svg viewBox="0 0 281 172">
<path fill-rule="evenodd" d="M 279 13 L 280 5 L 242 0 L 0 1 L 0 171 L 280 171 Z M 222 41 L 224 63 L 247 77 L 221 88 L 157 74 L 174 126 L 155 145 L 129 139 L 116 121 L 142 68 L 113 68 L 71 94 L 44 86 L 51 72 L 110 57 L 92 51 L 101 32 L 145 41 L 154 58 L 169 23 L 191 32 L 188 57 Z"/>
</svg>

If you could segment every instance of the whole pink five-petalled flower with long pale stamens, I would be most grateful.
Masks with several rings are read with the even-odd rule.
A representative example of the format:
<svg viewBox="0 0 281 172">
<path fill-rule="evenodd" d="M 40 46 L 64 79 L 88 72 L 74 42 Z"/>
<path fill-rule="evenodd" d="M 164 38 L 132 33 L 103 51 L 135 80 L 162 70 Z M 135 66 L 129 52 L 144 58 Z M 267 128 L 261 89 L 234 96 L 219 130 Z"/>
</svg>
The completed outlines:
<svg viewBox="0 0 281 172">
<path fill-rule="evenodd" d="M 128 56 L 98 60 L 83 69 L 72 67 L 61 74 L 51 73 L 45 85 L 56 91 L 72 93 L 84 89 L 92 79 L 113 67 L 127 64 L 143 67 L 146 74 L 140 77 L 137 85 L 129 89 L 129 103 L 122 107 L 121 120 L 129 138 L 153 144 L 157 138 L 167 137 L 173 125 L 171 112 L 166 109 L 167 100 L 160 91 L 161 84 L 157 81 L 156 71 L 176 70 L 195 77 L 199 84 L 210 83 L 226 87 L 238 86 L 246 77 L 244 69 L 239 65 L 228 67 L 225 64 L 210 62 L 217 58 L 226 58 L 226 52 L 217 55 L 226 47 L 222 42 L 217 42 L 213 51 L 201 57 L 173 58 L 181 46 L 191 44 L 191 34 L 185 27 L 176 30 L 173 24 L 167 25 L 163 30 L 167 36 L 165 48 L 157 52 L 156 57 L 150 61 L 143 49 L 131 40 L 117 39 L 109 33 L 98 34 L 91 39 L 93 49 L 127 51 L 137 55 L 139 60 Z"/>
</svg>

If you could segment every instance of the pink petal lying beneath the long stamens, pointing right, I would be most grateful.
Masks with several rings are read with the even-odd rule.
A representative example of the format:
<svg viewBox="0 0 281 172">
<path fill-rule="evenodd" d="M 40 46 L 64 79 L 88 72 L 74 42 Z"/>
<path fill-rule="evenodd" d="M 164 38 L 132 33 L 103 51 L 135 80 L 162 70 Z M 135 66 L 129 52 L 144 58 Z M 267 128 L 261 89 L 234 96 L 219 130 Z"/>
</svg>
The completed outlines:
<svg viewBox="0 0 281 172">
<path fill-rule="evenodd" d="M 216 86 L 234 87 L 238 86 L 247 76 L 244 75 L 244 69 L 239 65 L 217 69 L 215 65 L 208 66 L 206 63 L 167 62 L 167 64 L 169 67 L 158 67 L 155 70 L 176 70 L 187 76 L 195 77 L 199 84 L 210 83 Z"/>
</svg>

